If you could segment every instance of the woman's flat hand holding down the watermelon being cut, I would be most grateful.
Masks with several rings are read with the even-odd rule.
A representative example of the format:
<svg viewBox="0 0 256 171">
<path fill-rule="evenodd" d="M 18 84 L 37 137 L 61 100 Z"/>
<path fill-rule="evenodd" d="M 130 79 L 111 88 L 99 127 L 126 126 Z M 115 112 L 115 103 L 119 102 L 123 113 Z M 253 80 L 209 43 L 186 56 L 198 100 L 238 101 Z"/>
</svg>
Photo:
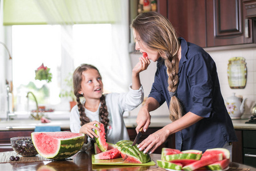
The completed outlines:
<svg viewBox="0 0 256 171">
<path fill-rule="evenodd" d="M 149 152 L 149 154 L 151 154 L 158 146 L 162 145 L 164 141 L 167 140 L 168 136 L 169 135 L 164 131 L 164 128 L 159 129 L 137 145 L 137 148 L 139 148 L 140 151 L 144 150 L 143 153 Z"/>
</svg>

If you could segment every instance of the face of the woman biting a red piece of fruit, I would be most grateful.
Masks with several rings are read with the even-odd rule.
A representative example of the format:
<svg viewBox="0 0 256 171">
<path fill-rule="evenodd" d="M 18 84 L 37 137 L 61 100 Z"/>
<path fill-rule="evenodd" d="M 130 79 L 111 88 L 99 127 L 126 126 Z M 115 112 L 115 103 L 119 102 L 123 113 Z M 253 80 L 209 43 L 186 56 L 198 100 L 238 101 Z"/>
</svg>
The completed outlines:
<svg viewBox="0 0 256 171">
<path fill-rule="evenodd" d="M 160 54 L 157 51 L 153 51 L 147 47 L 147 45 L 137 36 L 135 29 L 133 29 L 133 36 L 135 39 L 135 50 L 146 52 L 148 54 L 148 59 L 156 62 L 160 58 Z"/>
</svg>

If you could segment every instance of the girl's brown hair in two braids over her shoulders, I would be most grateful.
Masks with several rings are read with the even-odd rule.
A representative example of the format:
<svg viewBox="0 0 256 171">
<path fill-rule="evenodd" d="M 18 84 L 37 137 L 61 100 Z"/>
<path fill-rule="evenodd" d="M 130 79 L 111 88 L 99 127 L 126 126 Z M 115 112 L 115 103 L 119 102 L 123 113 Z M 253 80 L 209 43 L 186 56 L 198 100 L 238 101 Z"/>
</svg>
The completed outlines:
<svg viewBox="0 0 256 171">
<path fill-rule="evenodd" d="M 90 122 L 90 119 L 85 114 L 85 108 L 82 105 L 82 103 L 80 102 L 80 97 L 83 97 L 83 95 L 78 93 L 79 91 L 81 91 L 81 83 L 82 83 L 82 80 L 84 79 L 82 72 L 84 72 L 86 70 L 90 70 L 90 69 L 97 70 L 99 72 L 99 70 L 96 67 L 94 67 L 90 64 L 81 64 L 81 66 L 77 67 L 73 73 L 74 95 L 76 96 L 78 111 L 80 113 L 81 126 Z M 99 72 L 99 74 L 100 74 L 100 72 Z M 104 95 L 100 97 L 100 103 L 101 103 L 100 112 L 99 112 L 99 115 L 101 117 L 100 122 L 104 124 L 105 132 L 107 132 L 107 126 L 109 123 L 109 119 L 108 119 L 108 108 L 106 105 Z"/>
</svg>

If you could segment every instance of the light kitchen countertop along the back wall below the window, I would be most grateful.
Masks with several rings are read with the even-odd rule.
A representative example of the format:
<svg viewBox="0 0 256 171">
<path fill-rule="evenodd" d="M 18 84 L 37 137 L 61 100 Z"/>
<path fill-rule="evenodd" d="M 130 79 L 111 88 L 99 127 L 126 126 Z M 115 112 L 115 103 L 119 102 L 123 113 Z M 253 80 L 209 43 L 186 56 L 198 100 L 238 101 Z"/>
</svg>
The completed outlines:
<svg viewBox="0 0 256 171">
<path fill-rule="evenodd" d="M 235 129 L 256 130 L 256 124 L 246 124 L 249 119 L 232 120 Z M 124 122 L 127 128 L 135 128 L 136 117 L 125 117 Z M 153 116 L 151 118 L 150 128 L 161 128 L 171 123 L 167 116 Z M 69 119 L 52 119 L 50 123 L 41 123 L 40 120 L 32 119 L 14 119 L 10 121 L 0 121 L 0 131 L 13 130 L 33 130 L 36 126 L 60 126 L 61 129 L 69 129 Z"/>
</svg>

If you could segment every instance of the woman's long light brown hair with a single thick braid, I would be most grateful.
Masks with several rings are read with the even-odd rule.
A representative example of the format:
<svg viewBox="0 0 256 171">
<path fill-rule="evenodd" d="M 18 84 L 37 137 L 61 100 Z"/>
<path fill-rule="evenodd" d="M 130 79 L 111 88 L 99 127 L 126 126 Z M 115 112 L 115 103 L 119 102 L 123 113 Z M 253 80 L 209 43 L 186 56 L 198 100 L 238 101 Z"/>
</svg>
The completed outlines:
<svg viewBox="0 0 256 171">
<path fill-rule="evenodd" d="M 176 63 L 179 61 L 180 42 L 171 22 L 157 12 L 147 12 L 137 15 L 131 27 L 136 31 L 136 36 L 143 45 L 159 52 L 162 56 L 167 67 L 168 91 L 176 92 L 179 83 Z M 171 97 L 169 110 L 172 121 L 182 117 L 182 106 L 176 96 Z"/>
</svg>

